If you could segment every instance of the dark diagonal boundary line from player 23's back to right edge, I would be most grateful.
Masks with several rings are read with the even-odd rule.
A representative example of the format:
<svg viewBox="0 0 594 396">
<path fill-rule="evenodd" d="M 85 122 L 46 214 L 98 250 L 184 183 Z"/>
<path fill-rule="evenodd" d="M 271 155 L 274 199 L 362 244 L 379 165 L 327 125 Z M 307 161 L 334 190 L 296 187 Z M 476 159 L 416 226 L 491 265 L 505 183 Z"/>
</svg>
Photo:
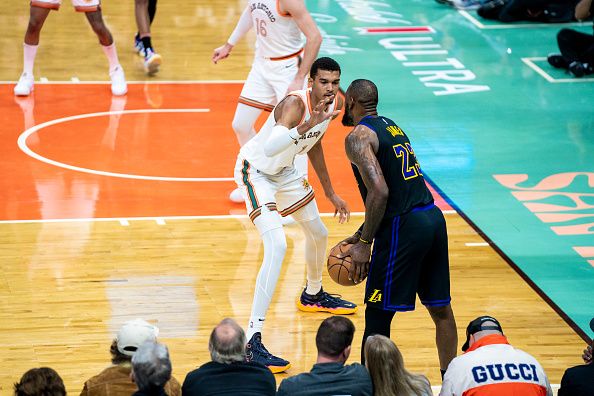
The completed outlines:
<svg viewBox="0 0 594 396">
<path fill-rule="evenodd" d="M 526 282 L 526 284 L 528 284 L 528 286 L 530 286 L 532 290 L 534 290 L 534 292 L 536 292 L 536 294 L 538 294 L 540 298 L 542 298 L 543 301 L 546 302 L 553 309 L 553 311 L 555 311 L 557 315 L 559 315 L 559 317 L 563 319 L 565 323 L 567 323 L 567 325 L 582 338 L 584 342 L 589 344 L 592 341 L 592 339 L 588 337 L 588 334 L 586 334 L 586 332 L 582 330 L 582 328 L 579 327 L 577 323 L 575 323 L 573 319 L 571 319 L 569 315 L 565 313 L 565 311 L 563 311 L 540 287 L 538 287 L 538 285 L 528 275 L 526 275 L 524 271 L 522 271 L 522 269 L 503 250 L 501 250 L 495 241 L 489 238 L 487 234 L 478 225 L 476 225 L 474 221 L 472 221 L 470 217 L 462 209 L 460 209 L 460 207 L 446 193 L 444 193 L 443 190 L 439 188 L 431 178 L 429 178 L 429 176 L 427 176 L 426 173 L 423 173 L 423 177 L 429 184 L 431 184 L 435 191 L 437 191 L 437 193 L 441 195 L 441 197 L 447 203 L 449 203 L 452 208 L 454 208 L 458 215 L 462 217 L 462 219 L 464 219 L 464 221 L 466 221 L 466 223 L 477 234 L 479 234 L 479 236 L 483 238 L 505 262 L 507 262 L 507 264 L 524 280 L 524 282 Z"/>
</svg>

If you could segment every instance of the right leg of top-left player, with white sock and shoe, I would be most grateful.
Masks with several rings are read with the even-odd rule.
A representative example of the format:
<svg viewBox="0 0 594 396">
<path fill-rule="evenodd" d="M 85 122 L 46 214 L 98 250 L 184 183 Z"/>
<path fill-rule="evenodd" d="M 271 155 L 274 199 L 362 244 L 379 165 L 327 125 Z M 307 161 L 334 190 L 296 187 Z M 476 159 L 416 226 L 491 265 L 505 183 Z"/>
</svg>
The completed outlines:
<svg viewBox="0 0 594 396">
<path fill-rule="evenodd" d="M 105 22 L 103 22 L 101 10 L 97 9 L 96 11 L 85 12 L 85 15 L 97 38 L 99 38 L 101 48 L 109 61 L 111 93 L 114 95 L 125 95 L 128 92 L 126 77 L 118 59 L 118 53 L 111 32 L 105 26 Z"/>
</svg>

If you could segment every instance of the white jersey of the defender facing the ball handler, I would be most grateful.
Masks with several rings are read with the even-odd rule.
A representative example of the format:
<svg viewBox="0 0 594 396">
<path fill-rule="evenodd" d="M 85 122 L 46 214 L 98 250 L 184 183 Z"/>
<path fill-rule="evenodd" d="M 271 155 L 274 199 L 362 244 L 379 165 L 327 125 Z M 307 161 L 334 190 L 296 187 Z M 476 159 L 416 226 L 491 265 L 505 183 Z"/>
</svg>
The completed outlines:
<svg viewBox="0 0 594 396">
<path fill-rule="evenodd" d="M 298 96 L 303 100 L 305 104 L 305 115 L 299 125 L 309 120 L 311 117 L 311 90 L 304 89 L 300 91 L 291 92 L 289 95 Z M 330 110 L 334 111 L 336 108 L 336 99 L 330 104 Z M 268 175 L 275 175 L 279 173 L 283 168 L 293 166 L 295 156 L 297 154 L 305 154 L 324 136 L 328 125 L 332 118 L 314 126 L 295 142 L 291 144 L 285 151 L 278 153 L 272 157 L 268 157 L 264 152 L 264 145 L 268 140 L 272 132 L 272 128 L 276 125 L 276 119 L 274 118 L 274 110 L 268 116 L 266 123 L 260 129 L 260 132 L 251 138 L 242 148 L 239 150 L 239 155 L 247 160 L 251 166 L 259 170 L 262 173 Z"/>
</svg>

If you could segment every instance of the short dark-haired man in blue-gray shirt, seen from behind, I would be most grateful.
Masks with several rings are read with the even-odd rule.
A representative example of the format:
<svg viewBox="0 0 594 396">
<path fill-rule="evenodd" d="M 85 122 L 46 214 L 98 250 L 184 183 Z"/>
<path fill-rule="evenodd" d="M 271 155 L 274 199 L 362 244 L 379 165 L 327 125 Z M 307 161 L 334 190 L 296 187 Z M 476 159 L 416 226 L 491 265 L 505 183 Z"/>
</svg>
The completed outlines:
<svg viewBox="0 0 594 396">
<path fill-rule="evenodd" d="M 316 335 L 316 364 L 309 373 L 284 379 L 277 395 L 371 396 L 373 386 L 365 366 L 359 363 L 345 365 L 351 353 L 354 333 L 355 325 L 344 316 L 324 319 Z"/>
</svg>

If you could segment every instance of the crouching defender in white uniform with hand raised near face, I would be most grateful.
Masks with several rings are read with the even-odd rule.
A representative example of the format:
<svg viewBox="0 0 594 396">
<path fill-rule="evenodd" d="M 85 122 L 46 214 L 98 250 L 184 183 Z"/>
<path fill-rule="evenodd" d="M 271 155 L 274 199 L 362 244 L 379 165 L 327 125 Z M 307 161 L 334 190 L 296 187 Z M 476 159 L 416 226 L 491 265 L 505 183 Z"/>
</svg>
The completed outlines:
<svg viewBox="0 0 594 396">
<path fill-rule="evenodd" d="M 290 364 L 266 350 L 261 331 L 287 248 L 281 216 L 292 215 L 305 233 L 307 286 L 297 307 L 335 314 L 352 314 L 357 309 L 355 304 L 322 289 L 328 231 L 320 219 L 313 189 L 294 165 L 298 154 L 307 153 L 339 222 L 347 221 L 349 208 L 332 188 L 321 144 L 331 119 L 342 107 L 342 99 L 336 96 L 340 66 L 330 58 L 316 60 L 310 82 L 310 89 L 289 93 L 273 109 L 260 132 L 241 148 L 235 165 L 235 182 L 264 244 L 246 334 L 247 360 L 262 363 L 275 373 Z"/>
</svg>

